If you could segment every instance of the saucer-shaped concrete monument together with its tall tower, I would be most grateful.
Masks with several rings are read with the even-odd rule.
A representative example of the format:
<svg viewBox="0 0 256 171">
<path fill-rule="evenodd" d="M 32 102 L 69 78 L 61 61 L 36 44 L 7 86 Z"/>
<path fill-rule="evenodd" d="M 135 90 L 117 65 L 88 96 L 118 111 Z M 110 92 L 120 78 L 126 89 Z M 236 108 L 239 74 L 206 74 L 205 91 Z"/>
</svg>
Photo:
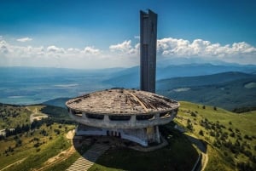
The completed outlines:
<svg viewBox="0 0 256 171">
<path fill-rule="evenodd" d="M 159 125 L 170 123 L 179 103 L 155 91 L 157 14 L 141 16 L 141 90 L 112 88 L 84 94 L 66 102 L 79 123 L 77 135 L 106 135 L 143 146 L 160 143 Z"/>
</svg>

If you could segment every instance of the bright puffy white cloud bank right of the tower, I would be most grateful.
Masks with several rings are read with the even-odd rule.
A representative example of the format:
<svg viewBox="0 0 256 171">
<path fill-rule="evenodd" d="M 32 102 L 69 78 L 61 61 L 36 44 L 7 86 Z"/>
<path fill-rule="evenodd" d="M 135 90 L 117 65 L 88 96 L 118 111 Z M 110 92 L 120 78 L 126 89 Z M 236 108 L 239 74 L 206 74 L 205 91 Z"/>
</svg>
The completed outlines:
<svg viewBox="0 0 256 171">
<path fill-rule="evenodd" d="M 195 39 L 192 43 L 184 39 L 163 38 L 157 41 L 158 52 L 164 56 L 199 56 L 199 57 L 236 57 L 255 55 L 256 48 L 248 43 L 221 45 L 209 41 Z"/>
</svg>

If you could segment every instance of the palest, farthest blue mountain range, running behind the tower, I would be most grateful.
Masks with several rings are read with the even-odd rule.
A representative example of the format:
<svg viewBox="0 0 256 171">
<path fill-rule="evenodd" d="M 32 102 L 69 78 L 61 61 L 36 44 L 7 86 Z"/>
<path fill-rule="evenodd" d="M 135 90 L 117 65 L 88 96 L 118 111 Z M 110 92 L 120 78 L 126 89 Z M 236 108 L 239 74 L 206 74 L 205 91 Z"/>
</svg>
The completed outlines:
<svg viewBox="0 0 256 171">
<path fill-rule="evenodd" d="M 172 77 L 194 77 L 205 76 L 227 71 L 240 71 L 245 73 L 256 72 L 256 66 L 214 66 L 212 64 L 186 64 L 180 66 L 157 67 L 156 79 Z M 113 87 L 138 88 L 139 87 L 139 66 L 113 73 L 112 77 L 102 83 L 110 84 Z"/>
</svg>

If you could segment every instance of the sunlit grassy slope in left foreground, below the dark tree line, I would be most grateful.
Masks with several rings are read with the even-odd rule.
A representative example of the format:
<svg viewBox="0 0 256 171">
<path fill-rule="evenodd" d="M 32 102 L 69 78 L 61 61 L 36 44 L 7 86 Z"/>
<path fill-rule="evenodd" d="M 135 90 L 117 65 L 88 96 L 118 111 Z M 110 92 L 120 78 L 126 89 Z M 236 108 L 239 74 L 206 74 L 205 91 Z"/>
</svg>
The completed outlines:
<svg viewBox="0 0 256 171">
<path fill-rule="evenodd" d="M 71 126 L 68 126 L 71 128 Z M 48 136 L 40 134 L 41 130 L 46 130 Z M 55 134 L 54 129 L 61 130 L 61 134 Z M 0 168 L 4 168 L 9 164 L 26 158 L 24 162 L 19 165 L 15 165 L 6 170 L 29 170 L 30 168 L 40 168 L 42 164 L 49 158 L 54 157 L 60 151 L 67 149 L 71 144 L 64 138 L 65 128 L 59 128 L 58 124 L 54 124 L 50 128 L 45 125 L 31 134 L 19 134 L 18 137 L 22 141 L 22 145 L 16 146 L 15 136 L 10 136 L 7 140 L 0 141 Z M 49 137 L 51 137 L 49 139 Z M 34 140 L 37 138 L 38 140 Z M 39 143 L 38 147 L 34 145 Z M 5 150 L 11 146 L 14 151 L 6 153 Z"/>
</svg>

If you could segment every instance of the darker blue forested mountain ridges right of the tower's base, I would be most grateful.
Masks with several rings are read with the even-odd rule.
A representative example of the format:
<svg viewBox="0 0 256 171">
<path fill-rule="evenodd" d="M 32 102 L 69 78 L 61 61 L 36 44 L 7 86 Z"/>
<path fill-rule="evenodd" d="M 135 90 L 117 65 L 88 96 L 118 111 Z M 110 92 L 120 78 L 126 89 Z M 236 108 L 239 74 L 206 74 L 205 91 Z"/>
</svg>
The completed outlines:
<svg viewBox="0 0 256 171">
<path fill-rule="evenodd" d="M 175 77 L 157 82 L 157 93 L 175 100 L 215 105 L 227 110 L 256 106 L 256 75 L 224 72 Z"/>
</svg>

